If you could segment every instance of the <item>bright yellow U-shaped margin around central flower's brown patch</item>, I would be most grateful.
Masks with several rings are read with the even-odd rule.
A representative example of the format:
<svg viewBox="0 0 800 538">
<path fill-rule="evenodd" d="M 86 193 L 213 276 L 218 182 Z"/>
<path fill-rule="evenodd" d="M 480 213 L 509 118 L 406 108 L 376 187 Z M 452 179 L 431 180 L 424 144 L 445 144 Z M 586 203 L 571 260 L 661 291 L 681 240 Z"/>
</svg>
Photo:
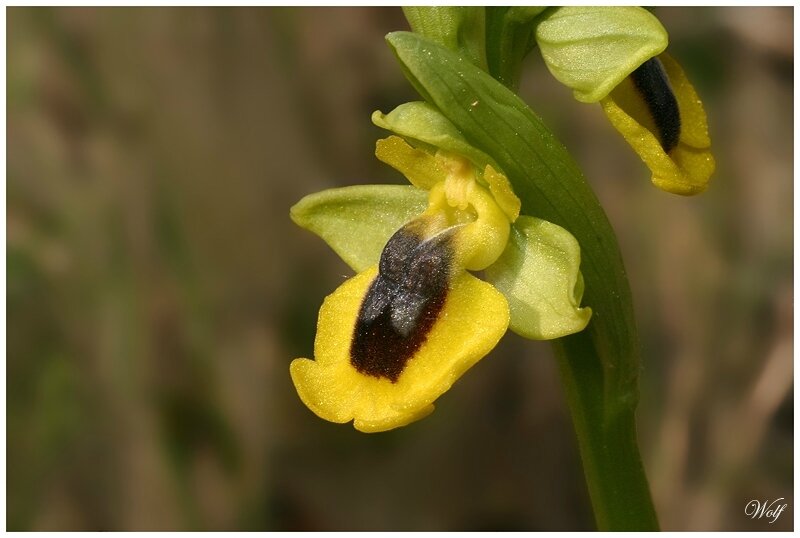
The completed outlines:
<svg viewBox="0 0 800 538">
<path fill-rule="evenodd" d="M 352 364 L 352 334 L 373 267 L 325 299 L 319 313 L 316 360 L 295 359 L 292 380 L 300 399 L 320 418 L 379 432 L 433 411 L 433 401 L 494 348 L 508 327 L 505 298 L 469 273 L 457 276 L 436 323 L 396 381 L 360 372 Z"/>
</svg>

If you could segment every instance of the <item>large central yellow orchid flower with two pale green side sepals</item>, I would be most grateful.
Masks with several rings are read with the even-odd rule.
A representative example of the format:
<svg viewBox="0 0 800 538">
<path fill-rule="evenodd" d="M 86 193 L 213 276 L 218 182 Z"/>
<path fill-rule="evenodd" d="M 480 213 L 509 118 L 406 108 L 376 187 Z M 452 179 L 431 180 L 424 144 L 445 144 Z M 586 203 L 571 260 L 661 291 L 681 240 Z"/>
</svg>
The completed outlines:
<svg viewBox="0 0 800 538">
<path fill-rule="evenodd" d="M 550 223 L 552 229 L 541 228 L 546 232 L 531 232 L 544 221 L 518 217 L 519 200 L 491 165 L 480 170 L 463 156 L 414 148 L 396 136 L 379 141 L 376 154 L 413 186 L 335 189 L 292 208 L 296 222 L 319 233 L 359 272 L 325 299 L 315 359 L 292 361 L 291 377 L 311 411 L 331 422 L 353 421 L 363 432 L 429 414 L 509 324 L 532 338 L 554 338 L 582 330 L 591 316 L 579 306 L 577 242 Z M 387 214 L 419 208 L 421 193 L 426 208 L 383 241 L 377 261 L 367 252 L 374 249 L 356 246 L 354 233 L 386 234 L 409 211 Z M 535 237 L 529 241 L 526 234 Z M 523 258 L 540 261 L 549 291 L 519 274 Z M 489 269 L 496 283 L 468 272 Z"/>
</svg>

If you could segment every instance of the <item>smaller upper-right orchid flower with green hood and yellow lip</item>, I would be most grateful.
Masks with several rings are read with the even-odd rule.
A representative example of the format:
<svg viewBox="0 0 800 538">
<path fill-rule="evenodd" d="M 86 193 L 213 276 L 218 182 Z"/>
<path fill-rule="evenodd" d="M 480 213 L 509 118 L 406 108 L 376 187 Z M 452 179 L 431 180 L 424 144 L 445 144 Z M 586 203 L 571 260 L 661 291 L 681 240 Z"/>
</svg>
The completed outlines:
<svg viewBox="0 0 800 538">
<path fill-rule="evenodd" d="M 581 102 L 600 102 L 611 124 L 652 172 L 658 188 L 703 192 L 714 172 L 708 121 L 667 33 L 639 7 L 548 10 L 535 37 L 553 76 Z"/>
</svg>

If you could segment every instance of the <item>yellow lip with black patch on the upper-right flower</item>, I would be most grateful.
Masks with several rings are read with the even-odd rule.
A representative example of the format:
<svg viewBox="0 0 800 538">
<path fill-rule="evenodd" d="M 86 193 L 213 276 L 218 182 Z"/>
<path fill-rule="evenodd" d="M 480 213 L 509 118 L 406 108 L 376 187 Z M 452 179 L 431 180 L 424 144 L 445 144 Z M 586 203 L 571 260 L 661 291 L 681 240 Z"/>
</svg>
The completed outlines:
<svg viewBox="0 0 800 538">
<path fill-rule="evenodd" d="M 703 192 L 715 169 L 703 104 L 668 54 L 648 60 L 600 101 L 612 125 L 650 168 L 655 186 Z"/>
</svg>

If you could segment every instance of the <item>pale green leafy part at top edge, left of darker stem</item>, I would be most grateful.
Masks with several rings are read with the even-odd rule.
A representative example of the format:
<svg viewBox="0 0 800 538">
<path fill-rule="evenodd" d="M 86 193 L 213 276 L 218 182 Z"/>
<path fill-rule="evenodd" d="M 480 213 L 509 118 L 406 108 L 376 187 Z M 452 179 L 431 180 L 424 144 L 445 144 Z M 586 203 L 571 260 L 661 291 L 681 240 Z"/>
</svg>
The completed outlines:
<svg viewBox="0 0 800 538">
<path fill-rule="evenodd" d="M 484 8 L 455 6 L 403 7 L 411 30 L 486 69 Z"/>
</svg>

